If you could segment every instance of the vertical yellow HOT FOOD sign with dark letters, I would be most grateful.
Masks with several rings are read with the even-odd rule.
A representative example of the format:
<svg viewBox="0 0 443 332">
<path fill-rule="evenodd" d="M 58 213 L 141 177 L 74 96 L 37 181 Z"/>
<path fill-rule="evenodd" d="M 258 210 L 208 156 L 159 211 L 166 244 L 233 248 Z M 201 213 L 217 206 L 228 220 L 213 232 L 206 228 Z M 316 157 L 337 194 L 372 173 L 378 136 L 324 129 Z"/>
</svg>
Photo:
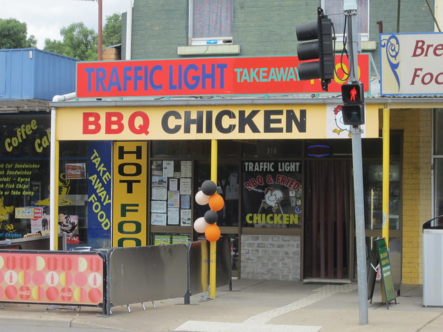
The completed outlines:
<svg viewBox="0 0 443 332">
<path fill-rule="evenodd" d="M 146 246 L 147 143 L 114 142 L 112 246 Z"/>
</svg>

